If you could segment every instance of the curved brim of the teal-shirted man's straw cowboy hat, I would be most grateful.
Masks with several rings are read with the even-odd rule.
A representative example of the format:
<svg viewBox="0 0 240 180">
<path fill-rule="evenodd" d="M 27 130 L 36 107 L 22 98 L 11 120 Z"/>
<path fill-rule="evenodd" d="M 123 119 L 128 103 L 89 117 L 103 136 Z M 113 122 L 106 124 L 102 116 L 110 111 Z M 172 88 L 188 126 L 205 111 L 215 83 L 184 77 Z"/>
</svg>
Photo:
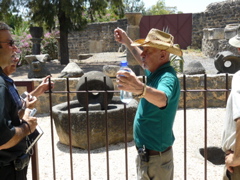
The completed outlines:
<svg viewBox="0 0 240 180">
<path fill-rule="evenodd" d="M 153 47 L 161 50 L 165 50 L 170 52 L 171 54 L 175 54 L 177 56 L 182 56 L 182 50 L 176 45 L 170 45 L 169 43 L 163 41 L 145 41 L 145 39 L 138 39 L 134 41 L 131 46 L 142 46 L 142 47 Z"/>
</svg>

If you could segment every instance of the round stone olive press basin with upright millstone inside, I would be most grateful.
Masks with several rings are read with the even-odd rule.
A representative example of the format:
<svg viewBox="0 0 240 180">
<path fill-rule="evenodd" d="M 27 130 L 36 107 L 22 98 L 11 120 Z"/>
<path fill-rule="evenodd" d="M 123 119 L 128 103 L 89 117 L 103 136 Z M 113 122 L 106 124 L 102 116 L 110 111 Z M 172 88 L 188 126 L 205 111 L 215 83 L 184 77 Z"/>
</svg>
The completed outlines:
<svg viewBox="0 0 240 180">
<path fill-rule="evenodd" d="M 124 104 L 114 95 L 112 80 L 100 71 L 85 73 L 76 86 L 77 99 L 70 101 L 72 146 L 96 149 L 125 141 Z M 108 92 L 106 92 L 108 91 Z M 126 105 L 127 141 L 133 139 L 133 120 L 138 102 Z M 69 145 L 68 103 L 53 106 L 53 119 L 59 141 Z M 89 125 L 89 126 L 88 126 Z M 107 128 L 106 128 L 107 126 Z M 106 130 L 108 132 L 106 132 Z"/>
</svg>

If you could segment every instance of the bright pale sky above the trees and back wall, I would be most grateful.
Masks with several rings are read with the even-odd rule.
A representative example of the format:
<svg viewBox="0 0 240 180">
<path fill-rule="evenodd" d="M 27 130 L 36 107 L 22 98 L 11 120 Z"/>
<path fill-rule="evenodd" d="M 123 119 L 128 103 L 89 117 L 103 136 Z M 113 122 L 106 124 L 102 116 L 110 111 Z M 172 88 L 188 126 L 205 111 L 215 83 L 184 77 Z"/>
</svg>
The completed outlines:
<svg viewBox="0 0 240 180">
<path fill-rule="evenodd" d="M 178 11 L 183 13 L 198 13 L 206 10 L 206 7 L 213 2 L 222 2 L 223 0 L 165 0 L 166 6 L 176 6 Z M 149 8 L 155 5 L 157 0 L 143 0 L 145 7 Z"/>
</svg>

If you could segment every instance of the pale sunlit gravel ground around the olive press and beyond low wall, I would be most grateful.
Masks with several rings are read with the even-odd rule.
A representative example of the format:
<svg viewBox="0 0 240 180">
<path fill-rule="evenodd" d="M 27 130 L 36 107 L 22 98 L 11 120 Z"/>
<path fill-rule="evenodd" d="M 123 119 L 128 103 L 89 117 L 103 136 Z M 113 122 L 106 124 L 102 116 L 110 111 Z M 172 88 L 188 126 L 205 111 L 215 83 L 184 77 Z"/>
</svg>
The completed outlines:
<svg viewBox="0 0 240 180">
<path fill-rule="evenodd" d="M 184 51 L 183 56 L 186 67 L 192 60 L 199 61 L 206 69 L 207 74 L 216 74 L 217 70 L 214 67 L 213 59 L 208 58 L 201 53 Z M 94 54 L 92 58 L 87 60 L 77 61 L 78 65 L 84 72 L 90 70 L 102 70 L 105 64 L 118 65 L 121 60 L 126 59 L 123 53 L 100 53 Z M 46 63 L 47 68 L 52 73 L 52 77 L 58 77 L 61 70 L 65 67 L 60 65 L 58 61 Z M 17 72 L 12 75 L 13 79 L 26 79 L 28 74 L 28 66 L 21 66 Z M 221 143 L 221 122 L 225 115 L 224 108 L 208 109 L 208 147 L 219 147 Z M 71 179 L 70 169 L 70 153 L 69 147 L 59 143 L 58 136 L 55 131 L 55 126 L 51 126 L 51 120 L 48 114 L 38 114 L 38 122 L 44 131 L 38 143 L 39 156 L 39 171 L 40 180 L 51 180 L 53 177 L 53 161 L 55 159 L 56 179 L 69 180 Z M 183 127 L 183 110 L 177 111 L 177 116 L 174 124 L 175 143 L 174 163 L 175 174 L 174 179 L 184 179 L 184 127 Z M 202 180 L 204 179 L 204 158 L 200 155 L 199 149 L 204 147 L 204 111 L 202 109 L 187 110 L 187 179 Z M 52 138 L 51 129 L 53 130 L 53 144 L 55 155 L 52 155 Z M 217 130 L 217 131 L 216 131 Z M 72 149 L 73 157 L 73 178 L 76 180 L 88 180 L 88 152 L 78 148 Z M 128 143 L 128 179 L 136 179 L 135 157 L 136 149 L 133 142 Z M 107 179 L 107 162 L 106 148 L 99 148 L 91 151 L 91 179 L 105 180 Z M 125 144 L 119 143 L 109 146 L 109 179 L 123 180 L 126 179 L 125 171 Z M 221 179 L 223 165 L 215 165 L 207 161 L 207 179 Z M 31 165 L 29 166 L 28 179 L 31 179 Z"/>
</svg>

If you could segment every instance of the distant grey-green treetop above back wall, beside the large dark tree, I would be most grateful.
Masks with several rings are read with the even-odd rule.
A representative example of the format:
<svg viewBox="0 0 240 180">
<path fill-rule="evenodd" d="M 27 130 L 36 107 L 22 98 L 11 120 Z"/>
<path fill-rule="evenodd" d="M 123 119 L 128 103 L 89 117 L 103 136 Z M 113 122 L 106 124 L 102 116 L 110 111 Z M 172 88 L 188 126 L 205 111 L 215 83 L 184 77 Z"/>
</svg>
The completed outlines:
<svg viewBox="0 0 240 180">
<path fill-rule="evenodd" d="M 142 0 L 124 0 L 125 12 L 140 12 L 145 14 L 146 8 Z"/>
</svg>

